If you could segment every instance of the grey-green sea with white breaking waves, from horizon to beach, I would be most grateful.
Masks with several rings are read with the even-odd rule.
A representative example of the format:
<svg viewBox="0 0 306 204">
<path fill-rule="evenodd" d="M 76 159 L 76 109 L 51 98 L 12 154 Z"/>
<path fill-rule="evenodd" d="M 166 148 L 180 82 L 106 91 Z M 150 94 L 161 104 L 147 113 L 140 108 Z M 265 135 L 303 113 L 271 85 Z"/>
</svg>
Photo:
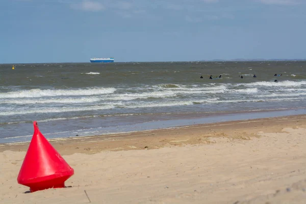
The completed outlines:
<svg viewBox="0 0 306 204">
<path fill-rule="evenodd" d="M 0 64 L 0 143 L 30 141 L 33 121 L 103 137 L 306 114 L 305 99 L 306 61 Z"/>
</svg>

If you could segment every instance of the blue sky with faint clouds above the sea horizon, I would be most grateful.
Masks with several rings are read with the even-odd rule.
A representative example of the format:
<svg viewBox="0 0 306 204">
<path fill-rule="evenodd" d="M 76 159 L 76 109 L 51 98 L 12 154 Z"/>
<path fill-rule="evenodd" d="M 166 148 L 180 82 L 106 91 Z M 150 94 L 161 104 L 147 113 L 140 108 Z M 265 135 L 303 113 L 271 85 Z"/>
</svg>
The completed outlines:
<svg viewBox="0 0 306 204">
<path fill-rule="evenodd" d="M 0 63 L 306 58 L 305 0 L 0 0 Z"/>
</svg>

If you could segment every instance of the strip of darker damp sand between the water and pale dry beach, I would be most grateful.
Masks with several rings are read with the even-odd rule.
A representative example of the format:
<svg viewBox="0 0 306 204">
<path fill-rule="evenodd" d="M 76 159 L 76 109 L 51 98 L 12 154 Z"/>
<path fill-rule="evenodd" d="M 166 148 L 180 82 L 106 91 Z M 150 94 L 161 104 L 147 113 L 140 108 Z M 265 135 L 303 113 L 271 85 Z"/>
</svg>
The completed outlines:
<svg viewBox="0 0 306 204">
<path fill-rule="evenodd" d="M 210 144 L 214 142 L 211 140 L 212 138 L 220 137 L 249 140 L 252 137 L 258 137 L 257 132 L 259 131 L 278 133 L 282 131 L 284 126 L 293 125 L 306 128 L 306 114 L 202 123 L 107 135 L 56 138 L 48 139 L 48 141 L 61 154 L 95 154 L 100 151 L 156 149 L 171 145 Z M 173 138 L 176 139 L 173 140 Z M 0 152 L 6 150 L 26 151 L 29 144 L 30 141 L 2 143 L 0 144 Z"/>
</svg>

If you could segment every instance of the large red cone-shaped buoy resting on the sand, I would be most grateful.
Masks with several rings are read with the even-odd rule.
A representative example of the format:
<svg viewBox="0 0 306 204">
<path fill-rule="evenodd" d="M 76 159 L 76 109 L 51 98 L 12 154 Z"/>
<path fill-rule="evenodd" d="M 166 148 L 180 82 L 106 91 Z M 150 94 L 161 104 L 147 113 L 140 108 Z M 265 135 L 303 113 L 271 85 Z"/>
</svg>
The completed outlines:
<svg viewBox="0 0 306 204">
<path fill-rule="evenodd" d="M 17 182 L 29 186 L 31 192 L 63 188 L 64 182 L 73 175 L 74 170 L 40 133 L 36 121 L 33 125 L 33 138 L 24 157 Z"/>
</svg>

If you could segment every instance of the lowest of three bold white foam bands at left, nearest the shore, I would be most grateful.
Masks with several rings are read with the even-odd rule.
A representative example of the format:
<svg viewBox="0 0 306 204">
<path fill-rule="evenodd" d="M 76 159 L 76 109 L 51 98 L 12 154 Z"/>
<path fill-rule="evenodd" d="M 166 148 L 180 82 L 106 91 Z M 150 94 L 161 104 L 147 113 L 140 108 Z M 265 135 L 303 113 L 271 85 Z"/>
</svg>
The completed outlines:
<svg viewBox="0 0 306 204">
<path fill-rule="evenodd" d="M 31 110 L 14 110 L 0 112 L 0 115 L 24 115 L 33 113 L 62 113 L 62 112 L 79 112 L 79 111 L 95 111 L 95 110 L 105 110 L 112 109 L 113 105 L 104 106 L 89 106 L 89 107 L 61 107 L 61 108 L 42 108 L 42 109 L 31 109 Z"/>
</svg>

